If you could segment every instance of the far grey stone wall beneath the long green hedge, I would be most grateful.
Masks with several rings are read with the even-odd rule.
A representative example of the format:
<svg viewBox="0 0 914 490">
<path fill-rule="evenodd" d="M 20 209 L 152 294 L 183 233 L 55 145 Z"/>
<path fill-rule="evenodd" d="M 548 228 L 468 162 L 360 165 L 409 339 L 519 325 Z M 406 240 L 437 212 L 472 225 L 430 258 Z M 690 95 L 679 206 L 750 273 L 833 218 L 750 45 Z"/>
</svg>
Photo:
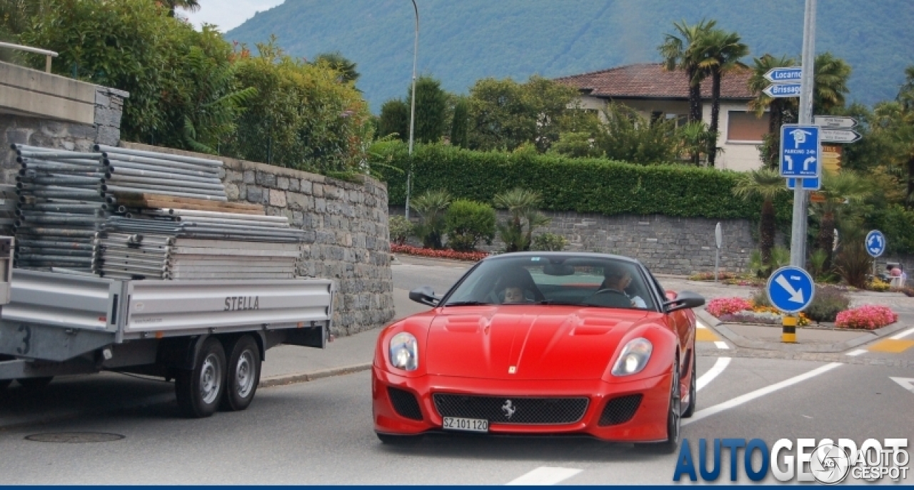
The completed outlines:
<svg viewBox="0 0 914 490">
<path fill-rule="evenodd" d="M 403 208 L 390 208 L 389 213 L 402 215 Z M 506 211 L 497 211 L 498 220 L 507 218 Z M 713 272 L 717 219 L 670 218 L 651 216 L 603 216 L 574 212 L 544 212 L 552 221 L 537 229 L 537 234 L 551 232 L 569 240 L 566 250 L 615 253 L 643 262 L 652 272 L 688 275 Z M 414 220 L 414 213 L 410 213 Z M 757 226 L 745 219 L 719 220 L 724 243 L 720 250 L 722 271 L 742 271 L 749 263 L 749 254 L 757 246 L 752 228 Z M 495 240 L 481 250 L 504 250 Z"/>
</svg>

